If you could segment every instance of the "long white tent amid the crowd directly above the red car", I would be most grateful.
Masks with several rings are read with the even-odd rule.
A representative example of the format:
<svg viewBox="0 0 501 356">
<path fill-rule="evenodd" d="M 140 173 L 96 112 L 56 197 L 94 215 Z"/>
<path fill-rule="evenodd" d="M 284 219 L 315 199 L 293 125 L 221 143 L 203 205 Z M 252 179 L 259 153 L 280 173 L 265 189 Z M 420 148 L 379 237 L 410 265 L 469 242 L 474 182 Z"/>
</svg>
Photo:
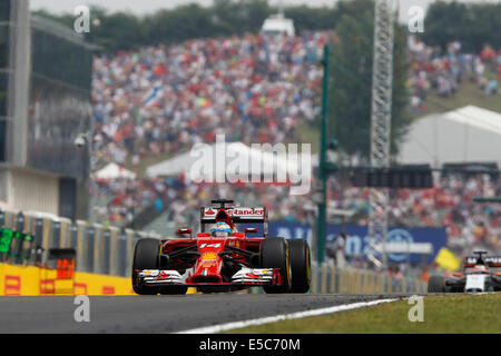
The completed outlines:
<svg viewBox="0 0 501 356">
<path fill-rule="evenodd" d="M 264 175 L 273 175 L 274 172 L 276 175 L 277 171 L 283 174 L 289 174 L 291 171 L 301 172 L 299 165 L 304 161 L 310 162 L 311 166 L 311 157 L 304 159 L 305 157 L 301 151 L 297 152 L 299 159 L 294 159 L 291 155 L 281 156 L 266 149 L 248 147 L 242 142 L 228 142 L 220 145 L 219 148 L 218 145 L 220 144 L 206 145 L 206 149 L 210 150 L 208 156 L 212 157 L 212 164 L 209 164 L 209 166 L 212 166 L 214 170 L 217 170 L 217 165 L 222 165 L 226 170 L 230 165 L 235 165 L 236 160 L 239 160 L 244 164 L 238 166 L 238 174 L 246 175 L 249 177 L 249 180 L 255 165 L 259 165 L 261 172 Z M 298 149 L 301 149 L 301 146 Z M 287 154 L 288 152 L 289 151 L 287 150 Z M 191 149 L 191 151 L 148 167 L 146 169 L 146 176 L 149 178 L 168 177 L 178 176 L 179 174 L 185 172 L 189 175 L 190 178 L 198 179 L 199 177 L 193 176 L 198 174 L 195 171 L 194 165 L 196 165 L 197 161 L 200 164 L 200 155 L 196 154 L 195 149 Z"/>
</svg>

